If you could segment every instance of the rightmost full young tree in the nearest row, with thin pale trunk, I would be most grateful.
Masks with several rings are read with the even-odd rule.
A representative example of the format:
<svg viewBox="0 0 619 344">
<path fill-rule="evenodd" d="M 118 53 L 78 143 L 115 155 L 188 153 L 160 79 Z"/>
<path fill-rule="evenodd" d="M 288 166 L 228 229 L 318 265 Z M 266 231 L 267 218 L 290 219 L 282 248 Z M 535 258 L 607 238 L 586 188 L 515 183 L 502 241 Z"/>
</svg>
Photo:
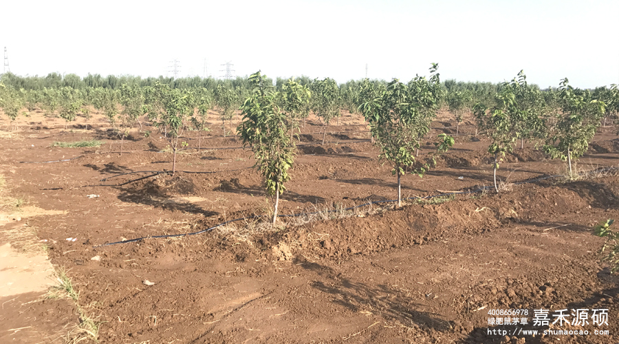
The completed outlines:
<svg viewBox="0 0 619 344">
<path fill-rule="evenodd" d="M 561 80 L 558 103 L 561 112 L 556 115 L 556 125 L 544 145 L 553 159 L 567 160 L 569 178 L 572 178 L 572 160 L 580 158 L 589 148 L 606 105 L 593 99 L 588 90 L 574 89 L 567 78 Z"/>
</svg>

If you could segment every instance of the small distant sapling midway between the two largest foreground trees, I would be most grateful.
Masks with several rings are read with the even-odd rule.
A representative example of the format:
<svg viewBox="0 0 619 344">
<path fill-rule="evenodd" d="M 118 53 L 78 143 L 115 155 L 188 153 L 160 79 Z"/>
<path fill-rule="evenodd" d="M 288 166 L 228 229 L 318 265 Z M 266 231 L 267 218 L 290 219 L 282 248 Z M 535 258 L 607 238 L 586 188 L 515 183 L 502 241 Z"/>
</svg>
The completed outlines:
<svg viewBox="0 0 619 344">
<path fill-rule="evenodd" d="M 323 144 L 325 144 L 329 122 L 334 117 L 340 116 L 340 89 L 335 80 L 325 78 L 323 80 L 314 79 L 310 84 L 310 91 L 312 92 L 312 102 L 310 103 L 312 111 L 323 121 Z"/>
</svg>

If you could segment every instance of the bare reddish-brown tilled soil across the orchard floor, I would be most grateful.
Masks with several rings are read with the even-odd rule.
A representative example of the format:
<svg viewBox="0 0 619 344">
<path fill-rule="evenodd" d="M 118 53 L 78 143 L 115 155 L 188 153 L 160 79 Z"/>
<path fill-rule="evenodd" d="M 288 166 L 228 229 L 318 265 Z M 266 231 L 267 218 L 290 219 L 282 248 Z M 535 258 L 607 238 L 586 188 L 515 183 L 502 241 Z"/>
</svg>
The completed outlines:
<svg viewBox="0 0 619 344">
<path fill-rule="evenodd" d="M 491 185 L 488 141 L 472 136 L 471 124 L 462 123 L 456 146 L 437 169 L 424 178 L 402 178 L 405 197 Z M 309 222 L 282 218 L 276 227 L 247 220 L 200 235 L 100 246 L 267 214 L 270 202 L 251 169 L 250 152 L 235 136 L 223 138 L 213 116 L 202 150 L 195 149 L 195 133 L 186 132 L 182 139 L 189 147 L 177 155 L 178 172 L 170 175 L 163 173 L 172 165 L 166 141 L 148 125 L 143 129 L 150 136 L 133 132 L 122 155 L 100 115 L 89 130 L 81 118 L 65 130 L 63 122 L 40 112 L 17 125 L 19 131 L 0 138 L 6 189 L 28 206 L 50 211 L 23 221 L 37 240 L 47 240 L 52 264 L 67 269 L 81 308 L 100 322 L 101 343 L 619 341 L 619 278 L 599 261 L 603 239 L 591 235 L 598 222 L 619 219 L 616 173 L 513 185 L 565 171 L 563 162 L 525 142 L 501 164 L 506 191 L 498 195 L 410 201 L 401 209 L 374 204 L 314 215 Z M 226 123 L 228 130 L 232 126 Z M 433 127 L 432 136 L 455 132 L 447 113 Z M 281 213 L 393 200 L 395 178 L 377 160 L 360 116 L 345 114 L 340 125 L 329 126 L 325 145 L 321 129 L 313 117 L 301 127 Z M 87 139 L 105 143 L 52 147 Z M 598 133 L 576 169 L 617 166 L 616 142 L 613 133 Z M 431 151 L 429 143 L 420 155 Z M 76 159 L 48 162 L 69 158 Z M 6 242 L 0 228 L 0 244 Z M 0 299 L 0 342 L 66 336 L 80 322 L 69 301 L 41 293 Z M 609 334 L 511 333 L 548 329 L 532 326 L 532 311 L 539 308 L 608 308 L 609 325 L 600 328 Z M 508 309 L 527 310 L 528 325 L 488 325 L 488 310 Z"/>
</svg>

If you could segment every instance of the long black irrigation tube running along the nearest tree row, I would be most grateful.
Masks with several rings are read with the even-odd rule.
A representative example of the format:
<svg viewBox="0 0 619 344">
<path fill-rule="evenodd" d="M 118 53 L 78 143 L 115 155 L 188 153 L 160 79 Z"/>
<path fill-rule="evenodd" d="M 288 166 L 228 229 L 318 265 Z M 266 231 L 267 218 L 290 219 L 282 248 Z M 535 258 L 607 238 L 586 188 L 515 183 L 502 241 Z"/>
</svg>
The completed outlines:
<svg viewBox="0 0 619 344">
<path fill-rule="evenodd" d="M 612 170 L 616 170 L 619 169 L 619 167 L 615 167 L 615 166 L 611 166 L 611 167 L 605 167 L 605 168 L 600 168 L 600 169 L 595 169 L 592 171 L 587 171 L 587 173 L 591 173 L 591 172 L 605 172 L 605 171 L 612 171 Z M 562 177 L 563 175 L 548 175 L 545 177 L 541 177 L 541 178 L 535 178 L 533 180 L 525 180 L 524 182 L 517 182 L 514 183 L 514 185 L 521 185 L 521 184 L 528 184 L 528 183 L 534 183 L 534 182 L 539 182 L 541 180 L 547 180 L 550 178 L 558 178 L 558 177 Z M 491 189 L 492 186 L 481 186 L 478 189 L 475 190 L 468 190 L 468 191 L 457 191 L 457 192 L 452 192 L 452 193 L 439 193 L 437 195 L 428 195 L 425 197 L 419 197 L 419 196 L 413 196 L 413 197 L 406 197 L 403 198 L 402 200 L 430 200 L 432 198 L 435 197 L 445 197 L 445 196 L 450 196 L 450 195 L 467 195 L 470 193 L 478 193 L 487 189 Z M 361 208 L 362 206 L 369 206 L 372 204 L 381 204 L 381 203 L 391 203 L 391 202 L 398 202 L 398 200 L 381 200 L 381 201 L 372 201 L 372 202 L 367 202 L 364 204 L 360 204 L 358 206 L 351 206 L 349 208 L 344 208 L 343 210 L 345 211 L 351 211 L 353 209 L 356 208 Z M 327 213 L 333 213 L 337 210 L 330 210 L 327 211 Z M 313 211 L 313 212 L 309 212 L 309 213 L 296 213 L 296 214 L 284 214 L 284 215 L 277 215 L 277 217 L 299 217 L 301 215 L 314 215 L 320 213 L 320 211 Z M 202 234 L 202 233 L 206 233 L 206 232 L 210 232 L 211 230 L 217 228 L 217 227 L 221 227 L 224 226 L 226 224 L 231 224 L 232 222 L 237 222 L 237 221 L 241 221 L 241 220 L 245 220 L 245 219 L 257 219 L 259 217 L 259 215 L 252 215 L 252 216 L 247 216 L 247 217 L 239 217 L 238 219 L 231 219 L 228 220 L 226 222 L 221 222 L 221 224 L 216 224 L 213 227 L 209 227 L 203 230 L 199 230 L 197 232 L 193 232 L 193 233 L 181 233 L 181 234 L 167 234 L 167 235 L 149 235 L 147 237 L 138 237 L 135 239 L 129 239 L 129 240 L 123 240 L 123 241 L 116 241 L 116 242 L 110 242 L 107 244 L 101 244 L 98 246 L 93 246 L 93 248 L 99 248 L 99 247 L 104 247 L 104 246 L 111 246 L 111 245 L 118 245 L 118 244 L 128 244 L 130 242 L 135 242 L 135 241 L 140 241 L 143 239 L 149 239 L 149 238 L 166 238 L 166 237 L 185 237 L 185 236 L 189 236 L 189 235 L 198 235 L 198 234 Z"/>
</svg>

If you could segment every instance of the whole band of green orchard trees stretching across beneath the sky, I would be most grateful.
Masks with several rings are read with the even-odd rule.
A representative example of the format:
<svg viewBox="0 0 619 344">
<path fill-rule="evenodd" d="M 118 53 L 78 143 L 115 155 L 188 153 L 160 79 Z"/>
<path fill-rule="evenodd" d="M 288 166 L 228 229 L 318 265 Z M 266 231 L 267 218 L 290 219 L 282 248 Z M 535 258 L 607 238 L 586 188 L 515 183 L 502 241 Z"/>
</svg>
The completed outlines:
<svg viewBox="0 0 619 344">
<path fill-rule="evenodd" d="M 105 114 L 118 134 L 121 154 L 129 129 L 142 127 L 140 118 L 146 118 L 169 141 L 172 173 L 177 150 L 184 143 L 179 138 L 186 129 L 198 132 L 199 149 L 202 133 L 209 130 L 209 110 L 217 111 L 226 136 L 226 120 L 240 109 L 243 120 L 237 133 L 252 149 L 265 189 L 275 197 L 274 221 L 279 195 L 290 180 L 287 171 L 294 162 L 294 133 L 310 111 L 323 122 L 323 144 L 327 126 L 340 116 L 340 109 L 365 118 L 373 142 L 380 148 L 380 159 L 393 166 L 392 173 L 398 178 L 398 206 L 402 175 L 423 176 L 435 166 L 436 158 L 454 144 L 452 137 L 442 134 L 435 138 L 433 153 L 418 156 L 420 142 L 426 140 L 431 122 L 442 107 L 454 116 L 456 135 L 465 116 L 472 114 L 477 125 L 475 135 L 490 140 L 488 153 L 494 158 L 497 192 L 496 173 L 501 158 L 519 140 L 521 147 L 524 140 L 529 140 L 552 158 L 567 160 L 572 174 L 572 160 L 587 151 L 598 127 L 608 123 L 619 127 L 616 85 L 577 89 L 565 78 L 557 88 L 541 90 L 527 83 L 522 71 L 500 85 L 454 80 L 441 83 L 437 68 L 433 63 L 427 78 L 416 76 L 406 84 L 398 79 L 385 83 L 366 78 L 343 85 L 330 78 L 306 77 L 278 78 L 274 85 L 261 72 L 226 81 L 126 78 L 127 82 L 119 84 L 108 77 L 107 83 L 100 85 L 96 80 L 103 79 L 90 75 L 83 80 L 70 77 L 65 85 L 65 80 L 58 82 L 49 76 L 19 78 L 10 74 L 0 82 L 0 107 L 12 122 L 20 114 L 41 108 L 67 124 L 77 116 L 89 120 L 93 107 Z M 50 85 L 52 81 L 56 85 Z"/>
</svg>

